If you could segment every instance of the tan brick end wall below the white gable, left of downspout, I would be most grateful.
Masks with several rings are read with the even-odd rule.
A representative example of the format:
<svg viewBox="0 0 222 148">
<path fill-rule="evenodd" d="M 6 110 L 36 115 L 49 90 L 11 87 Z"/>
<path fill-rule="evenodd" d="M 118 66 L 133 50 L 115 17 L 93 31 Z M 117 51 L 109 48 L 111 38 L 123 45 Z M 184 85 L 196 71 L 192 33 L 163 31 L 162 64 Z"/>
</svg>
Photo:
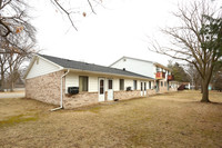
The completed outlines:
<svg viewBox="0 0 222 148">
<path fill-rule="evenodd" d="M 39 101 L 60 105 L 60 83 L 63 71 L 26 80 L 26 97 Z"/>
</svg>

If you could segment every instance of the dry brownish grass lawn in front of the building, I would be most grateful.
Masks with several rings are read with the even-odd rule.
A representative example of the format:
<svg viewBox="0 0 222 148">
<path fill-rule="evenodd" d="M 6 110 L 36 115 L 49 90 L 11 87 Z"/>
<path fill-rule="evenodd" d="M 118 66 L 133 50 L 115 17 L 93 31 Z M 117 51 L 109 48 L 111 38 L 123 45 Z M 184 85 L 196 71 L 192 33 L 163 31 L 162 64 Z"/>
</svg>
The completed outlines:
<svg viewBox="0 0 222 148">
<path fill-rule="evenodd" d="M 108 102 L 75 110 L 0 99 L 0 147 L 222 147 L 222 92 L 199 91 Z"/>
</svg>

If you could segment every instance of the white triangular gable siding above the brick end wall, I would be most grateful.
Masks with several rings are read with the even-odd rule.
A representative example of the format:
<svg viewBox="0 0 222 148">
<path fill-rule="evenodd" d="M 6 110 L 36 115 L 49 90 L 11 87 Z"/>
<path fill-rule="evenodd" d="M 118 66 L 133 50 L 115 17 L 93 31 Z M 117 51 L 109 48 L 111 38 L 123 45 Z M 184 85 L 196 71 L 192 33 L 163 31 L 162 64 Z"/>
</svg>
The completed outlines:
<svg viewBox="0 0 222 148">
<path fill-rule="evenodd" d="M 42 58 L 39 58 L 39 61 L 36 60 L 33 66 L 31 67 L 29 73 L 27 75 L 27 79 L 34 78 L 38 76 L 56 72 L 60 70 L 59 66 L 56 66 Z"/>
</svg>

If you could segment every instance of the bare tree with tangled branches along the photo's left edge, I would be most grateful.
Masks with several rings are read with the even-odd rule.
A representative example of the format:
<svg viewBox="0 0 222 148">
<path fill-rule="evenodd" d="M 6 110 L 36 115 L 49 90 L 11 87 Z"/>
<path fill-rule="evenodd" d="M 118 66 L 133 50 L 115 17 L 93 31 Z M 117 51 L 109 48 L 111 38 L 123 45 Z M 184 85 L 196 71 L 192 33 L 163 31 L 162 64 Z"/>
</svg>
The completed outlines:
<svg viewBox="0 0 222 148">
<path fill-rule="evenodd" d="M 1 89 L 6 86 L 7 72 L 14 75 L 21 59 L 34 51 L 32 47 L 36 43 L 36 29 L 29 22 L 27 3 L 26 0 L 0 0 Z"/>
</svg>

